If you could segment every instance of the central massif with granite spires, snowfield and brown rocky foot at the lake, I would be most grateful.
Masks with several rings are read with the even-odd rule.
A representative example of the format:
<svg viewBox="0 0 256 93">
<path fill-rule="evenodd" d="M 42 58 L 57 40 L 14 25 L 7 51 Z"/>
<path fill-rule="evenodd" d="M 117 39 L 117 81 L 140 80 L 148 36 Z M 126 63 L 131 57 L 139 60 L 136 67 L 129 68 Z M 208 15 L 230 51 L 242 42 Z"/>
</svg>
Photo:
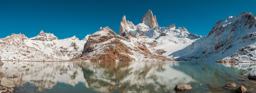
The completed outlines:
<svg viewBox="0 0 256 93">
<path fill-rule="evenodd" d="M 126 16 L 118 35 L 109 27 L 89 36 L 78 61 L 172 61 L 169 54 L 185 48 L 197 39 L 185 27 L 159 27 L 151 10 L 136 26 Z M 173 47 L 175 46 L 175 47 Z M 172 48 L 171 48 L 172 47 Z"/>
</svg>

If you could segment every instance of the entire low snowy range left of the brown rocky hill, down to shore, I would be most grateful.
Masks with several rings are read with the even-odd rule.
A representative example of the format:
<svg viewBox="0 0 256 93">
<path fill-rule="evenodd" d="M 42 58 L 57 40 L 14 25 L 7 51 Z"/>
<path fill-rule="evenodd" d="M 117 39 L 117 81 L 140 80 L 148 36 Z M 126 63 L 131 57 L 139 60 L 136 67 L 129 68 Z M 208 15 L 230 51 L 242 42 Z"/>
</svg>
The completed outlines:
<svg viewBox="0 0 256 93">
<path fill-rule="evenodd" d="M 69 61 L 80 57 L 84 40 L 76 36 L 60 39 L 41 31 L 33 38 L 12 34 L 0 39 L 2 60 L 14 61 Z"/>
</svg>

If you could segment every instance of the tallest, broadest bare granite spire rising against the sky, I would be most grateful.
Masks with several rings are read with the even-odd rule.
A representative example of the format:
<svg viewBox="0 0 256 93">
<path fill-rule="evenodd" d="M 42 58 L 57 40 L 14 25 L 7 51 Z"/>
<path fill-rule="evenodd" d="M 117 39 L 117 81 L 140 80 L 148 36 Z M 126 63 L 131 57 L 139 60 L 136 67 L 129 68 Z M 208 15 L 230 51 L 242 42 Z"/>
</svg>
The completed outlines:
<svg viewBox="0 0 256 93">
<path fill-rule="evenodd" d="M 142 17 L 141 23 L 146 24 L 150 29 L 158 27 L 157 18 L 155 17 L 155 15 L 153 16 L 151 10 L 148 10 L 147 13 Z"/>
</svg>

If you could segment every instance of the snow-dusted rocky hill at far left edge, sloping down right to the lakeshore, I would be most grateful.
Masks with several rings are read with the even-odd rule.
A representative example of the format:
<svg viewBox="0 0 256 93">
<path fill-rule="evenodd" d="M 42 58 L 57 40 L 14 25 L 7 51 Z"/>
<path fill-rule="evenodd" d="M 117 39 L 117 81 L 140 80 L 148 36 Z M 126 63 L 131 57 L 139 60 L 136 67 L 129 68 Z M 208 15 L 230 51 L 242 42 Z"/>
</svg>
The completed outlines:
<svg viewBox="0 0 256 93">
<path fill-rule="evenodd" d="M 0 39 L 1 60 L 13 61 L 59 61 L 43 51 L 27 46 L 24 34 L 12 34 Z"/>
</svg>

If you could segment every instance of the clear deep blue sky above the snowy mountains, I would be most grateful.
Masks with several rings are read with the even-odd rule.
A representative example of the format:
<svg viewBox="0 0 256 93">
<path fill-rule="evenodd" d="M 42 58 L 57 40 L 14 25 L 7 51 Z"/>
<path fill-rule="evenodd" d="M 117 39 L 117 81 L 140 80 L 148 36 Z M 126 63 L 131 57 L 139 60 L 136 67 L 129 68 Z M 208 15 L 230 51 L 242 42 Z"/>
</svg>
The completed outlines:
<svg viewBox="0 0 256 93">
<path fill-rule="evenodd" d="M 160 27 L 175 24 L 197 35 L 206 35 L 214 24 L 241 12 L 256 14 L 256 0 L 0 0 L 0 38 L 41 30 L 64 39 L 83 39 L 100 27 L 119 31 L 125 15 L 135 25 L 151 9 Z"/>
</svg>

